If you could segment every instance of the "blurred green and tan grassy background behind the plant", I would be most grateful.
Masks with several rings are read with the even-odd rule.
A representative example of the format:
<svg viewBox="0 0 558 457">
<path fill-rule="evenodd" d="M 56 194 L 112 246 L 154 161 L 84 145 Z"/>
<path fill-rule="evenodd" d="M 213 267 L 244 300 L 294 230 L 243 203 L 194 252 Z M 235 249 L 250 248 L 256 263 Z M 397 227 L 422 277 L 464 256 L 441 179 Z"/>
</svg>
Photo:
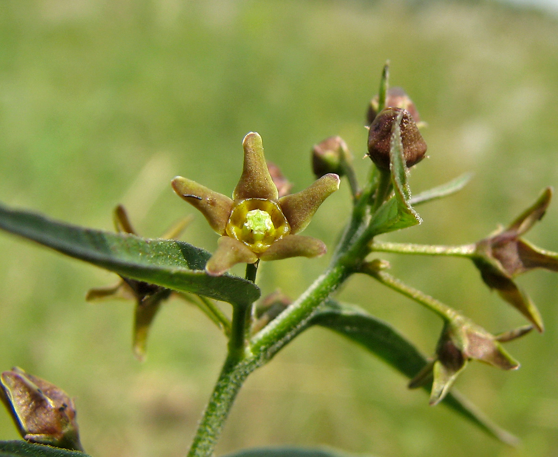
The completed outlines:
<svg viewBox="0 0 558 457">
<path fill-rule="evenodd" d="M 123 203 L 138 232 L 158 236 L 194 214 L 184 239 L 217 236 L 176 197 L 177 174 L 225 194 L 258 131 L 294 191 L 313 180 L 309 150 L 341 135 L 367 175 L 369 98 L 386 59 L 422 118 L 430 159 L 419 192 L 463 172 L 458 195 L 419 208 L 424 223 L 384 240 L 461 244 L 508 223 L 546 185 L 558 187 L 558 22 L 502 4 L 399 1 L 3 0 L 0 3 L 0 201 L 112 230 Z M 307 235 L 333 246 L 348 215 L 346 183 Z M 528 239 L 558 250 L 558 204 Z M 456 259 L 402 258 L 393 272 L 492 332 L 519 314 Z M 318 260 L 264 264 L 263 292 L 296 297 Z M 95 457 L 185 455 L 217 377 L 225 339 L 191 306 L 170 301 L 148 359 L 131 351 L 132 303 L 85 303 L 113 274 L 0 234 L 0 369 L 19 365 L 76 399 Z M 358 347 L 322 329 L 300 336 L 248 379 L 217 448 L 328 445 L 382 456 L 558 455 L 558 281 L 519 279 L 546 332 L 508 345 L 504 373 L 470 364 L 458 388 L 522 438 L 490 439 Z M 395 325 L 431 354 L 440 322 L 367 278 L 340 298 Z M 1 439 L 16 439 L 0 413 Z"/>
</svg>

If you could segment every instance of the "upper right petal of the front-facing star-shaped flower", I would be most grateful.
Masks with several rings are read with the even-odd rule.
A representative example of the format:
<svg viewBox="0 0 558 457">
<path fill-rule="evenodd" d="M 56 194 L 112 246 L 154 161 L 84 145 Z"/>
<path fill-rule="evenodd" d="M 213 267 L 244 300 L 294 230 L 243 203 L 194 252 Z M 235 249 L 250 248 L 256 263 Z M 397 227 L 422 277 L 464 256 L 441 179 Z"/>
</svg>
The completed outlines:
<svg viewBox="0 0 558 457">
<path fill-rule="evenodd" d="M 291 225 L 291 234 L 306 228 L 320 204 L 339 189 L 339 177 L 326 174 L 304 191 L 290 194 L 279 199 L 279 206 Z"/>
</svg>

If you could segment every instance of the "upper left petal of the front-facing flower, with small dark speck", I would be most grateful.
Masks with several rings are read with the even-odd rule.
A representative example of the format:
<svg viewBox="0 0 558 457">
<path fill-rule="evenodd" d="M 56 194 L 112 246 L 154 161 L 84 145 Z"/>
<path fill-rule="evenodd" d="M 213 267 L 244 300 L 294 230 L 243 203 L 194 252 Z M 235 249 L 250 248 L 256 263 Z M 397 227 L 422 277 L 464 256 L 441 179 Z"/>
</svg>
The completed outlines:
<svg viewBox="0 0 558 457">
<path fill-rule="evenodd" d="M 233 201 L 229 197 L 181 176 L 172 180 L 172 188 L 185 201 L 201 211 L 211 229 L 219 235 L 224 235 L 233 207 Z"/>
</svg>

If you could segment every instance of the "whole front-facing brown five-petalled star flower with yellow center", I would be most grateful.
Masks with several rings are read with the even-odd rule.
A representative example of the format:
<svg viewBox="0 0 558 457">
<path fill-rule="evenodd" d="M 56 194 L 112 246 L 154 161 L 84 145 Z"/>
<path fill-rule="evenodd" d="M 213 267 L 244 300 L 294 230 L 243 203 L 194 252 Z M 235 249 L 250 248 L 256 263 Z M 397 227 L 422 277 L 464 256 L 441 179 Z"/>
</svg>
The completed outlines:
<svg viewBox="0 0 558 457">
<path fill-rule="evenodd" d="M 263 155 L 261 136 L 250 132 L 242 145 L 244 166 L 233 198 L 187 178 L 172 180 L 174 191 L 198 208 L 221 235 L 206 272 L 221 275 L 237 263 L 324 254 L 322 241 L 296 234 L 339 188 L 338 175 L 326 174 L 304 191 L 279 198 Z"/>
</svg>

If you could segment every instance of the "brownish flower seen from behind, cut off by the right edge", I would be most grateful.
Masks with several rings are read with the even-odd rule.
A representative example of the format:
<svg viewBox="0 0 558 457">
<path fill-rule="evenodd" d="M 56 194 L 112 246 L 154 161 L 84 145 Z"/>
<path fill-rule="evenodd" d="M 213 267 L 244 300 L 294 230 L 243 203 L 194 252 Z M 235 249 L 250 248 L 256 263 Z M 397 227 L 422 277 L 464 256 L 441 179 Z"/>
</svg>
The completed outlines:
<svg viewBox="0 0 558 457">
<path fill-rule="evenodd" d="M 517 275 L 535 268 L 558 272 L 558 254 L 540 249 L 521 236 L 542 218 L 550 204 L 552 189 L 546 188 L 506 230 L 498 230 L 475 245 L 473 261 L 488 287 L 519 310 L 542 332 L 544 327 L 537 307 L 513 281 Z"/>
</svg>

